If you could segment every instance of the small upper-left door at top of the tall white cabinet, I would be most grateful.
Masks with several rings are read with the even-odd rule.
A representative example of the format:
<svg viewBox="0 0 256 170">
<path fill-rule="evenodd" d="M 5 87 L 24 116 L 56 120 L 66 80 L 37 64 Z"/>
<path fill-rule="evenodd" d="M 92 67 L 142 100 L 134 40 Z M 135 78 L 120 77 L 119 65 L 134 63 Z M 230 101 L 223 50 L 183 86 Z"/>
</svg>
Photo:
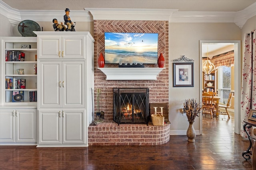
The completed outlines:
<svg viewBox="0 0 256 170">
<path fill-rule="evenodd" d="M 38 38 L 38 59 L 60 59 L 61 56 L 61 36 Z"/>
</svg>

